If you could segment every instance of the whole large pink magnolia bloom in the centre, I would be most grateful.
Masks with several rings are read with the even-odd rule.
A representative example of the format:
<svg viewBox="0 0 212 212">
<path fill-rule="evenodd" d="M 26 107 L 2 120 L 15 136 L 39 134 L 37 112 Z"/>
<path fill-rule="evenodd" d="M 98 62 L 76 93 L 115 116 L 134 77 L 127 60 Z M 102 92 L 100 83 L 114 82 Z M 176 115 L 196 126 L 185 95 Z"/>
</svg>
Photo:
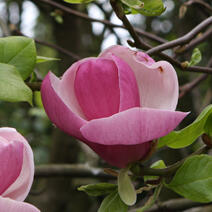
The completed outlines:
<svg viewBox="0 0 212 212">
<path fill-rule="evenodd" d="M 187 115 L 175 111 L 178 89 L 170 63 L 112 46 L 74 63 L 61 79 L 49 72 L 41 95 L 57 127 L 122 168 L 144 158 L 151 141 Z"/>
</svg>

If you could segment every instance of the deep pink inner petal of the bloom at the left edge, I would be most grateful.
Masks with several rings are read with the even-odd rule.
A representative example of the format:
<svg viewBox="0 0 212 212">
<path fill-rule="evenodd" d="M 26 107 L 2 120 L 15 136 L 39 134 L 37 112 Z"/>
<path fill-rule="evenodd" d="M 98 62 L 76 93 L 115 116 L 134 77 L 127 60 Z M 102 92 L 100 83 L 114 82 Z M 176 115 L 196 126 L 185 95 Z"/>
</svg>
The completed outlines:
<svg viewBox="0 0 212 212">
<path fill-rule="evenodd" d="M 0 194 L 17 179 L 21 172 L 23 148 L 22 142 L 8 142 L 0 136 Z"/>
</svg>

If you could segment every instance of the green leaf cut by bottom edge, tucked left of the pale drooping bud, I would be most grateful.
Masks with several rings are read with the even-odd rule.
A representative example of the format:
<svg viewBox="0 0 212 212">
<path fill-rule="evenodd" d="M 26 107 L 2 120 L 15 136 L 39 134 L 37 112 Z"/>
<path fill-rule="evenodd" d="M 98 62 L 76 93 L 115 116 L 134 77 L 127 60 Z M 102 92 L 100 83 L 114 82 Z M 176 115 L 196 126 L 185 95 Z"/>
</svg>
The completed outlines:
<svg viewBox="0 0 212 212">
<path fill-rule="evenodd" d="M 108 195 L 102 202 L 98 212 L 127 212 L 128 206 L 122 202 L 117 191 Z"/>
</svg>

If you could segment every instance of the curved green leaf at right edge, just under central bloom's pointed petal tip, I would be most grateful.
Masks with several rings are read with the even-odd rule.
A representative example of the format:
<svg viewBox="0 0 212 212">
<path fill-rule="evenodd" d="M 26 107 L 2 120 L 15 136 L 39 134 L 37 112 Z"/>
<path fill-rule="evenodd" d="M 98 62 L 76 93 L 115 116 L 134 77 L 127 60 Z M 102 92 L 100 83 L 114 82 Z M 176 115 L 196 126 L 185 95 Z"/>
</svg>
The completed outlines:
<svg viewBox="0 0 212 212">
<path fill-rule="evenodd" d="M 212 105 L 207 106 L 197 119 L 179 131 L 172 131 L 168 135 L 159 139 L 158 148 L 165 145 L 178 149 L 189 146 L 192 144 L 200 135 L 204 133 L 204 126 L 208 116 L 212 113 Z"/>
</svg>

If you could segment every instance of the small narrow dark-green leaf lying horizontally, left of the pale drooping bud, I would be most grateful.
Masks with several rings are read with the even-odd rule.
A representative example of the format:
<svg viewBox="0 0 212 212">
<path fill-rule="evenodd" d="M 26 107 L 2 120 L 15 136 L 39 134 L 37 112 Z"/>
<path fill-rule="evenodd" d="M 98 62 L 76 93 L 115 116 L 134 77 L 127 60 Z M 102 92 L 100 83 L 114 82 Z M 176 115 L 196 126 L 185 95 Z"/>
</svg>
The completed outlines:
<svg viewBox="0 0 212 212">
<path fill-rule="evenodd" d="M 117 185 L 111 183 L 97 183 L 80 186 L 79 191 L 84 191 L 90 196 L 107 195 L 117 189 Z"/>
</svg>

